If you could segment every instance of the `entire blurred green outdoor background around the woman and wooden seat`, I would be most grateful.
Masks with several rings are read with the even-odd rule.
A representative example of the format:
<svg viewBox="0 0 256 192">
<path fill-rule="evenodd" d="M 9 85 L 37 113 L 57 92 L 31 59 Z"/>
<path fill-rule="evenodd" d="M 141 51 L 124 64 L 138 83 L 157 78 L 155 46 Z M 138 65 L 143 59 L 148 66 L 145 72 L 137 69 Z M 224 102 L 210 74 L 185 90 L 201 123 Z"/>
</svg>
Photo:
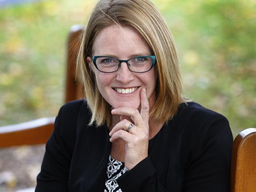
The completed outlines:
<svg viewBox="0 0 256 192">
<path fill-rule="evenodd" d="M 22 2 L 22 3 L 17 3 Z M 153 0 L 174 36 L 184 97 L 256 127 L 256 1 Z M 67 34 L 95 0 L 0 0 L 0 126 L 56 116 Z M 44 145 L 0 149 L 0 191 L 36 185 Z"/>
</svg>

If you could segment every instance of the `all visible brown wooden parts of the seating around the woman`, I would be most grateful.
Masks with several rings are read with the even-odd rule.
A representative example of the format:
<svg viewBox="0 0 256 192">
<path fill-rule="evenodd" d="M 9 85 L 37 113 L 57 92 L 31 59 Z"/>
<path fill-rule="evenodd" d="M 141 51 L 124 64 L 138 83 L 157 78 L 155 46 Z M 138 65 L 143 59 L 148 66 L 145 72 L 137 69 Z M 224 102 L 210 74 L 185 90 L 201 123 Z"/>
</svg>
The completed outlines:
<svg viewBox="0 0 256 192">
<path fill-rule="evenodd" d="M 84 98 L 82 86 L 75 80 L 76 57 L 83 28 L 73 26 L 67 45 L 65 102 Z M 54 127 L 55 117 L 0 127 L 0 147 L 45 143 Z M 256 128 L 243 130 L 234 140 L 230 192 L 256 192 Z"/>
</svg>

